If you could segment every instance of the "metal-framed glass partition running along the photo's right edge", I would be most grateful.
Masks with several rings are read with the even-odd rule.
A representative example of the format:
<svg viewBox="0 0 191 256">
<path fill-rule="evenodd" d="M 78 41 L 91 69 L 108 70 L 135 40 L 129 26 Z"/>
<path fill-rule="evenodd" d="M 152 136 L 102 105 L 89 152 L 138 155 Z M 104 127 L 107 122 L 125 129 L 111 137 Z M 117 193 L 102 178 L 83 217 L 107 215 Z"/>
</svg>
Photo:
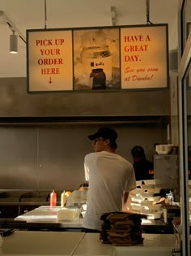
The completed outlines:
<svg viewBox="0 0 191 256">
<path fill-rule="evenodd" d="M 178 68 L 179 119 L 180 119 L 180 204 L 181 204 L 181 251 L 183 256 L 190 255 L 190 219 L 191 211 L 191 33 L 188 30 L 189 1 L 182 1 L 179 19 L 179 53 Z M 190 17 L 191 18 L 191 17 Z M 190 208 L 191 209 L 191 208 Z"/>
</svg>

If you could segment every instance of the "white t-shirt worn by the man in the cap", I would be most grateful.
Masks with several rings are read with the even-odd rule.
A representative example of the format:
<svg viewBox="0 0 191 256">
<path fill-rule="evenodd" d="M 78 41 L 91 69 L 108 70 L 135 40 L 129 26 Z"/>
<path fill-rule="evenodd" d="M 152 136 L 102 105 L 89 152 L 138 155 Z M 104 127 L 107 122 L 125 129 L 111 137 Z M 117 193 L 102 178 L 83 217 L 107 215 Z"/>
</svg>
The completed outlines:
<svg viewBox="0 0 191 256">
<path fill-rule="evenodd" d="M 83 228 L 99 230 L 100 216 L 122 210 L 124 193 L 136 188 L 134 167 L 119 154 L 101 151 L 87 154 L 84 168 L 89 189 Z"/>
</svg>

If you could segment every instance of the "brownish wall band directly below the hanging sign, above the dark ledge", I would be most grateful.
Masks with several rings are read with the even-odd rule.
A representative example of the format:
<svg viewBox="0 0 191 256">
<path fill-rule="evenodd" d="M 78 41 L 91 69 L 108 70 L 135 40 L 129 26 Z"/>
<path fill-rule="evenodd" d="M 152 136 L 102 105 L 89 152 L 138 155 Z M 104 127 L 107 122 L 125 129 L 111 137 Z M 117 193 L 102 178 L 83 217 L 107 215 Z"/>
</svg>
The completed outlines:
<svg viewBox="0 0 191 256">
<path fill-rule="evenodd" d="M 0 79 L 1 117 L 169 115 L 168 89 L 27 93 L 26 78 Z"/>
</svg>

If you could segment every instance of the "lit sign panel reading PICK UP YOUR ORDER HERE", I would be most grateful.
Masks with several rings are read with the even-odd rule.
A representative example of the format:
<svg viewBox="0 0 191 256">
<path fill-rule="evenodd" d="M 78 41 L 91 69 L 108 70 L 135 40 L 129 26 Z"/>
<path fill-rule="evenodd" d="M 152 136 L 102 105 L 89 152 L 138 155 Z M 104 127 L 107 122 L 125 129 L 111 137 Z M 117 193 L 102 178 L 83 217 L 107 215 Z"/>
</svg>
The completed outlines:
<svg viewBox="0 0 191 256">
<path fill-rule="evenodd" d="M 29 33 L 28 61 L 31 91 L 73 89 L 71 31 Z"/>
</svg>

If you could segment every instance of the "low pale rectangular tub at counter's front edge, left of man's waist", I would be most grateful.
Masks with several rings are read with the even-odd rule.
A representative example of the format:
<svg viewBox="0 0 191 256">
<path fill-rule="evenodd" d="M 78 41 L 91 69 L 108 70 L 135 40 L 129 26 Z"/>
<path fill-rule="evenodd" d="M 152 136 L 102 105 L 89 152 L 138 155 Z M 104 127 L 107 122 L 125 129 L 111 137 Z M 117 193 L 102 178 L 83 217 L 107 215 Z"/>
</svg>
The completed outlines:
<svg viewBox="0 0 191 256">
<path fill-rule="evenodd" d="M 72 220 L 72 219 L 79 219 L 79 212 L 78 208 L 62 208 L 57 210 L 57 220 Z"/>
</svg>

